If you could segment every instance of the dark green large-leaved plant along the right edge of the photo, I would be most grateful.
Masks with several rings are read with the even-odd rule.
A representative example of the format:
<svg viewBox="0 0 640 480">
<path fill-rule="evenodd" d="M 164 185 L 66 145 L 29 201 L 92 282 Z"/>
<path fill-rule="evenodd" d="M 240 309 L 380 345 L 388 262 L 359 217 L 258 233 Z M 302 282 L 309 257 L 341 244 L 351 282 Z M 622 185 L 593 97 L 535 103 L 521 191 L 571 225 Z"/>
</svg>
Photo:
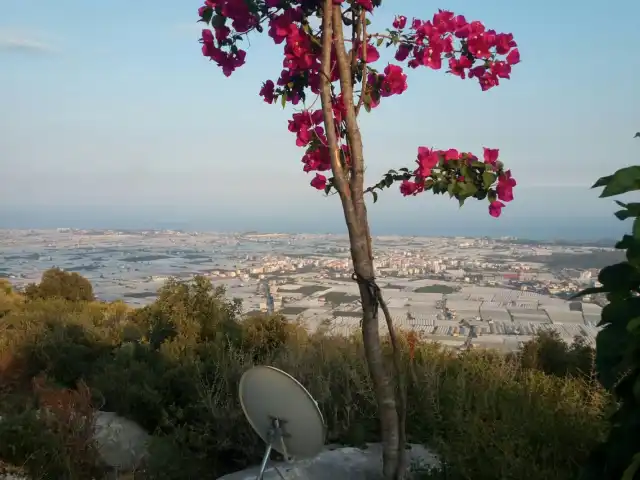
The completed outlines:
<svg viewBox="0 0 640 480">
<path fill-rule="evenodd" d="M 638 135 L 636 135 L 638 136 Z M 640 166 L 626 167 L 600 178 L 593 188 L 604 187 L 601 198 L 640 190 Z M 640 476 L 640 203 L 616 200 L 620 220 L 633 218 L 631 235 L 616 248 L 626 251 L 626 261 L 603 268 L 601 286 L 578 295 L 606 293 L 596 338 L 596 371 L 602 386 L 611 391 L 617 409 L 610 418 L 606 442 L 596 448 L 585 479 L 632 480 Z"/>
</svg>

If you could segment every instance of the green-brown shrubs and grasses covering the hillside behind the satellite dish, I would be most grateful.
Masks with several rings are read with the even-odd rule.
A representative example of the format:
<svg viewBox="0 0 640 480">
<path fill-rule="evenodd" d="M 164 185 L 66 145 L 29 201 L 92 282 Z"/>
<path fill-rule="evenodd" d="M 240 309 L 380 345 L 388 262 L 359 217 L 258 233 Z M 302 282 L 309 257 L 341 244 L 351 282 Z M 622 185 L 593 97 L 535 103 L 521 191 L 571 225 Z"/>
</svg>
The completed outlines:
<svg viewBox="0 0 640 480">
<path fill-rule="evenodd" d="M 310 335 L 277 315 L 241 321 L 240 304 L 202 277 L 170 280 L 139 309 L 88 299 L 77 277 L 44 278 L 46 288 L 25 294 L 0 285 L 0 466 L 32 478 L 100 478 L 86 422 L 74 413 L 94 409 L 153 434 L 135 478 L 209 479 L 258 463 L 261 443 L 237 400 L 254 364 L 282 368 L 310 390 L 328 442 L 379 439 L 356 337 Z M 522 355 L 424 344 L 411 360 L 406 349 L 409 441 L 436 450 L 447 479 L 576 478 L 607 433 L 610 402 L 591 359 L 588 347 L 549 335 Z M 51 415 L 36 414 L 42 404 L 55 405 Z"/>
</svg>

